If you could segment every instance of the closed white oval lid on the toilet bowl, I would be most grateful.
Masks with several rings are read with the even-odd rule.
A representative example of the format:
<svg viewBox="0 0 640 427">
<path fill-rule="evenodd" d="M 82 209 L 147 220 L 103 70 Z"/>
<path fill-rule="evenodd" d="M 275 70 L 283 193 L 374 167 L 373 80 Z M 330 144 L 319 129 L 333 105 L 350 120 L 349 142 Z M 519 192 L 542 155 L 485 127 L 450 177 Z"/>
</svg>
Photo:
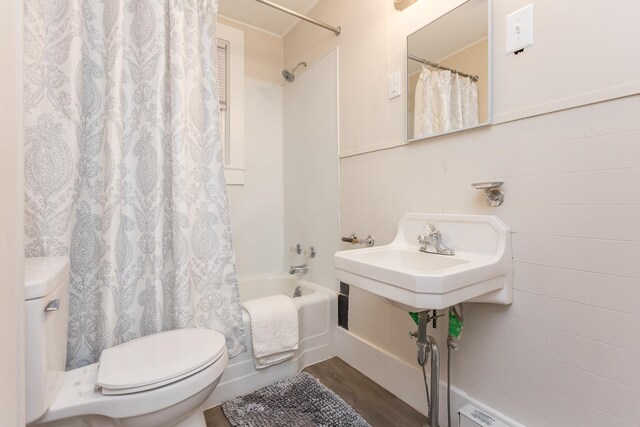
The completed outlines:
<svg viewBox="0 0 640 427">
<path fill-rule="evenodd" d="M 226 350 L 209 329 L 177 329 L 138 338 L 102 352 L 96 385 L 103 394 L 157 388 L 199 372 Z"/>
</svg>

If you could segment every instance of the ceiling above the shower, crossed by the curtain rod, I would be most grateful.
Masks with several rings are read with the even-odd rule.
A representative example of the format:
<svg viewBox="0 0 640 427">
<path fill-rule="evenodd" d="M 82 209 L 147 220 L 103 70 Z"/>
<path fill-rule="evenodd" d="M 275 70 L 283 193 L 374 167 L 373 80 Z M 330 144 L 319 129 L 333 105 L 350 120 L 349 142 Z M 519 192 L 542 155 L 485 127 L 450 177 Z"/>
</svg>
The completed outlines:
<svg viewBox="0 0 640 427">
<path fill-rule="evenodd" d="M 308 13 L 319 0 L 273 0 L 273 3 Z M 218 13 L 279 36 L 285 36 L 300 20 L 255 0 L 219 0 Z"/>
</svg>

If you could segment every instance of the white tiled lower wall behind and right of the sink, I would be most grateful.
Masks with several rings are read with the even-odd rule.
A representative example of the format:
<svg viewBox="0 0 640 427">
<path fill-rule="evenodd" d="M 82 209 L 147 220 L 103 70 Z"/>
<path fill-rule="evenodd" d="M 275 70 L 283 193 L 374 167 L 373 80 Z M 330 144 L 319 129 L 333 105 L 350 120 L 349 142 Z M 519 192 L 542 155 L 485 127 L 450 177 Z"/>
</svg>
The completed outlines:
<svg viewBox="0 0 640 427">
<path fill-rule="evenodd" d="M 453 383 L 527 426 L 640 425 L 639 111 L 636 95 L 341 162 L 343 232 L 385 244 L 410 211 L 511 227 L 514 304 L 467 305 Z M 500 208 L 469 185 L 487 179 Z M 415 363 L 405 312 L 354 288 L 350 307 L 351 332 Z"/>
</svg>

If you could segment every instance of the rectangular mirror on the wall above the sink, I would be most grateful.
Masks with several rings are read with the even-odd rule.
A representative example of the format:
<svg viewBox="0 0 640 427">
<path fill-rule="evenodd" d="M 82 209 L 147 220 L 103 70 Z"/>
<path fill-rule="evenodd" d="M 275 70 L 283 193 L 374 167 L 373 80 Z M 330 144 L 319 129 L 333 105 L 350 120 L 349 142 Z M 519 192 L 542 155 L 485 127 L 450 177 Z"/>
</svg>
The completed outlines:
<svg viewBox="0 0 640 427">
<path fill-rule="evenodd" d="M 489 0 L 468 0 L 407 37 L 407 141 L 491 122 Z"/>
</svg>

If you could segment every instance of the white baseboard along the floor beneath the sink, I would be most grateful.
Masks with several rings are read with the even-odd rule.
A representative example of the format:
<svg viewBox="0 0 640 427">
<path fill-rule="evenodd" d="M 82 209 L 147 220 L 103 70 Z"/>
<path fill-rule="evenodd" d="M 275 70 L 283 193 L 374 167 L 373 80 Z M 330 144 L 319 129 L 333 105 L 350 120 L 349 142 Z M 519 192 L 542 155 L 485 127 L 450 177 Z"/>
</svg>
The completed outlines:
<svg viewBox="0 0 640 427">
<path fill-rule="evenodd" d="M 418 365 L 412 366 L 374 344 L 363 340 L 351 332 L 337 328 L 335 333 L 337 356 L 349 365 L 371 378 L 377 384 L 394 394 L 400 400 L 418 412 L 426 415 L 426 395 L 422 372 Z M 447 425 L 447 386 L 440 382 L 440 425 Z M 525 427 L 486 404 L 468 396 L 463 390 L 451 387 L 451 406 L 460 408 L 472 403 L 495 416 L 496 419 L 513 427 Z M 458 420 L 452 417 L 452 426 L 457 427 Z"/>
</svg>

